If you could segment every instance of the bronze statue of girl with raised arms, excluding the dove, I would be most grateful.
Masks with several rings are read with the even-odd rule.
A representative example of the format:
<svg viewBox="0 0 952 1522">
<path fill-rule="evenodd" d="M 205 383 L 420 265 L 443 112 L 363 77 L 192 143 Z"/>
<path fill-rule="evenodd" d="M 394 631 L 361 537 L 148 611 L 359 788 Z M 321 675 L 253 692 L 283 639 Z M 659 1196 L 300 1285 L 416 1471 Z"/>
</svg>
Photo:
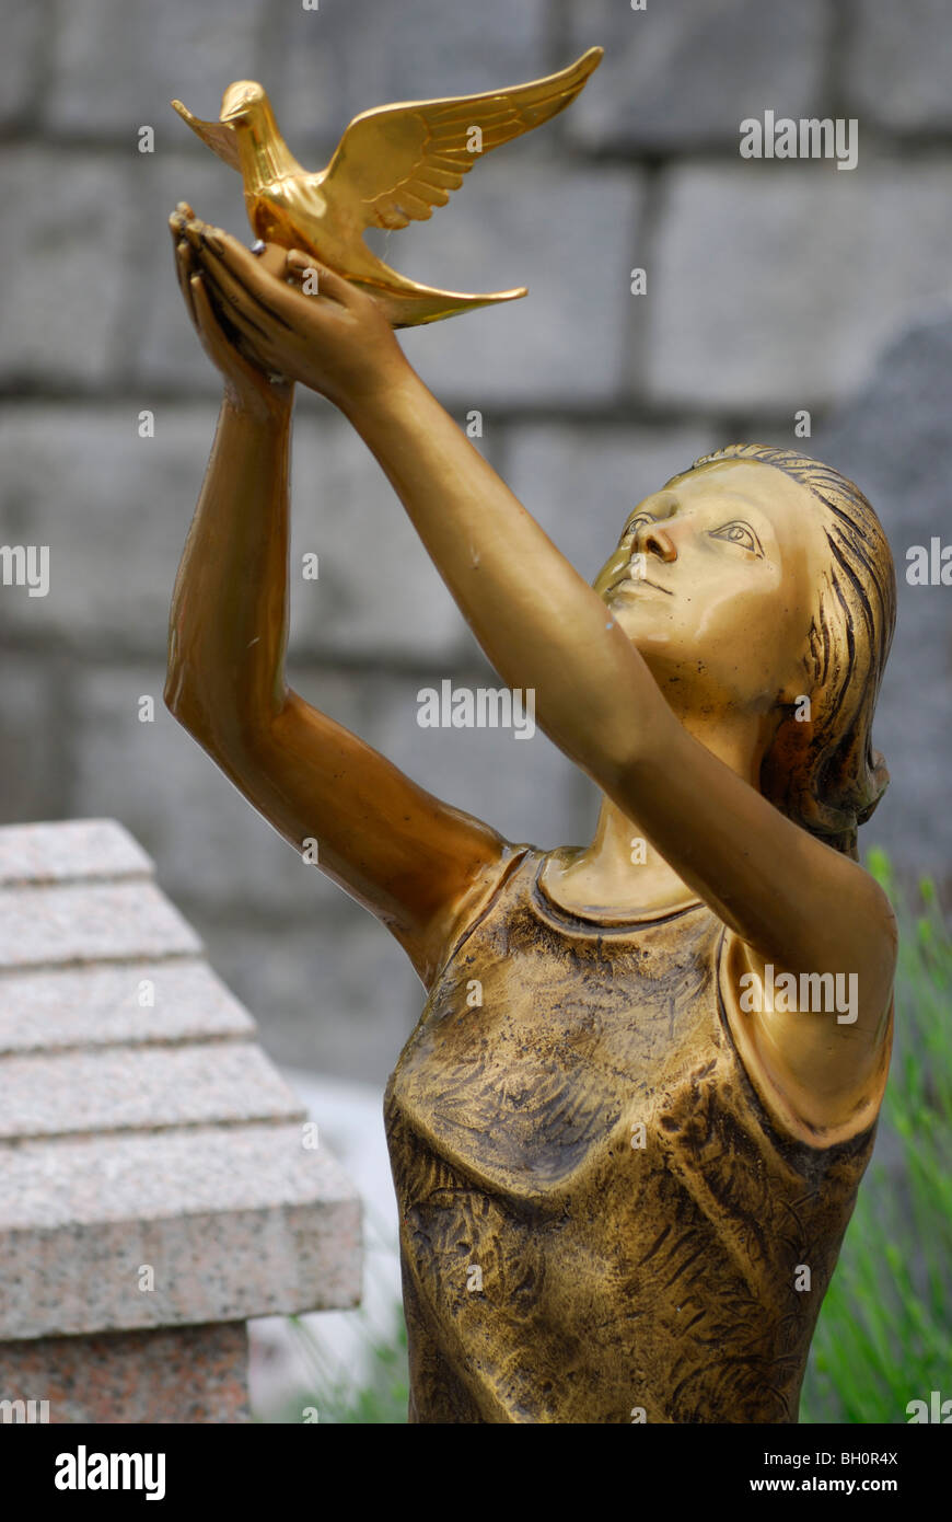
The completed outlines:
<svg viewBox="0 0 952 1522">
<path fill-rule="evenodd" d="M 856 829 L 894 624 L 870 504 L 794 451 L 648 496 L 589 586 L 313 251 L 181 204 L 225 396 L 166 700 L 371 910 L 427 1001 L 385 1111 L 414 1422 L 795 1422 L 873 1148 L 896 924 Z M 347 271 L 344 271 L 347 274 Z M 294 385 L 380 461 L 488 659 L 601 788 L 540 852 L 290 691 Z"/>
</svg>

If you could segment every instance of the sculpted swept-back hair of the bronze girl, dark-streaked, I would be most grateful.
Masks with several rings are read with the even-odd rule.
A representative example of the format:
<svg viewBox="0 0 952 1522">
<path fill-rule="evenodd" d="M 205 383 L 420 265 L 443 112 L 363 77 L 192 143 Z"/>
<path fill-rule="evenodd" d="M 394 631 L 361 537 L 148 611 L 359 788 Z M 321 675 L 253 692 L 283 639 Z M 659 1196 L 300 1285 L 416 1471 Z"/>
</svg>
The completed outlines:
<svg viewBox="0 0 952 1522">
<path fill-rule="evenodd" d="M 830 559 L 803 651 L 811 718 L 798 721 L 794 705 L 783 705 L 760 767 L 760 788 L 795 823 L 856 858 L 856 831 L 890 782 L 871 740 L 896 627 L 896 569 L 887 536 L 859 487 L 809 455 L 770 444 L 728 444 L 695 460 L 690 469 L 721 460 L 776 466 L 823 507 Z"/>
</svg>

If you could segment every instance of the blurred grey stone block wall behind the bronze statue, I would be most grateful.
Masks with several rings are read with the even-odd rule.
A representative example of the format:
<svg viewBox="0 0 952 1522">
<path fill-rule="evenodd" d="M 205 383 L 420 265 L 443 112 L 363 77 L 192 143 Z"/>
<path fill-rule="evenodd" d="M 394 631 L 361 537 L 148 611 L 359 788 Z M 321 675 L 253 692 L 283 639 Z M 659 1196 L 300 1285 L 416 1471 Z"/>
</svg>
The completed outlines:
<svg viewBox="0 0 952 1522">
<path fill-rule="evenodd" d="M 421 1008 L 403 953 L 298 857 L 161 703 L 169 598 L 216 417 L 166 218 L 249 236 L 240 184 L 169 110 L 257 78 L 325 161 L 359 110 L 468 93 L 605 49 L 575 107 L 476 167 L 386 257 L 526 301 L 405 335 L 449 411 L 593 575 L 628 510 L 738 438 L 867 490 L 900 624 L 879 711 L 893 788 L 864 831 L 947 883 L 952 589 L 952 6 L 943 0 L 3 0 L 0 543 L 50 545 L 49 597 L 0 587 L 0 819 L 114 816 L 278 1061 L 382 1081 Z M 859 163 L 745 161 L 739 122 L 843 116 Z M 155 152 L 137 151 L 138 128 Z M 630 271 L 648 294 L 630 294 Z M 155 414 L 155 437 L 137 434 Z M 417 781 L 514 840 L 581 843 L 595 793 L 537 734 L 421 731 L 443 677 L 497 685 L 374 460 L 298 399 L 289 676 Z M 154 723 L 138 699 L 155 697 Z M 779 864 L 782 871 L 782 864 Z"/>
</svg>

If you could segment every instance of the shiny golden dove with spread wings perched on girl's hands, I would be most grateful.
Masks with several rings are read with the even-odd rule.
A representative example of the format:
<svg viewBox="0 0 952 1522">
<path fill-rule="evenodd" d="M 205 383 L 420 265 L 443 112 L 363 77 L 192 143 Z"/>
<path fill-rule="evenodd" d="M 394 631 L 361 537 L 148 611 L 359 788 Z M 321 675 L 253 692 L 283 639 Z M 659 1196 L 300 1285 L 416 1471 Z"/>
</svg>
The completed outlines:
<svg viewBox="0 0 952 1522">
<path fill-rule="evenodd" d="M 242 175 L 257 237 L 312 253 L 319 263 L 367 288 L 394 327 L 411 327 L 512 301 L 526 295 L 525 286 L 467 295 L 418 285 L 370 251 L 367 228 L 400 228 L 411 219 L 430 218 L 478 158 L 564 111 L 601 58 L 602 49 L 590 47 L 560 73 L 511 90 L 362 111 L 318 174 L 297 161 L 268 94 L 249 79 L 228 85 L 217 122 L 199 120 L 181 100 L 172 105 Z"/>
</svg>

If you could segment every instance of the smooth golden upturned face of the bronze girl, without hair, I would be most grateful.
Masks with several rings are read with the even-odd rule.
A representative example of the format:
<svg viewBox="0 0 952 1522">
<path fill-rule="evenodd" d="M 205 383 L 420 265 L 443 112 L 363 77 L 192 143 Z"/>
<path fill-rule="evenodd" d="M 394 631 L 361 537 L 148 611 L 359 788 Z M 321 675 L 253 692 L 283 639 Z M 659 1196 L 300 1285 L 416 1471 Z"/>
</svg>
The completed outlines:
<svg viewBox="0 0 952 1522">
<path fill-rule="evenodd" d="M 724 460 L 645 498 L 593 584 L 678 711 L 766 712 L 803 694 L 827 568 L 814 495 Z"/>
</svg>

